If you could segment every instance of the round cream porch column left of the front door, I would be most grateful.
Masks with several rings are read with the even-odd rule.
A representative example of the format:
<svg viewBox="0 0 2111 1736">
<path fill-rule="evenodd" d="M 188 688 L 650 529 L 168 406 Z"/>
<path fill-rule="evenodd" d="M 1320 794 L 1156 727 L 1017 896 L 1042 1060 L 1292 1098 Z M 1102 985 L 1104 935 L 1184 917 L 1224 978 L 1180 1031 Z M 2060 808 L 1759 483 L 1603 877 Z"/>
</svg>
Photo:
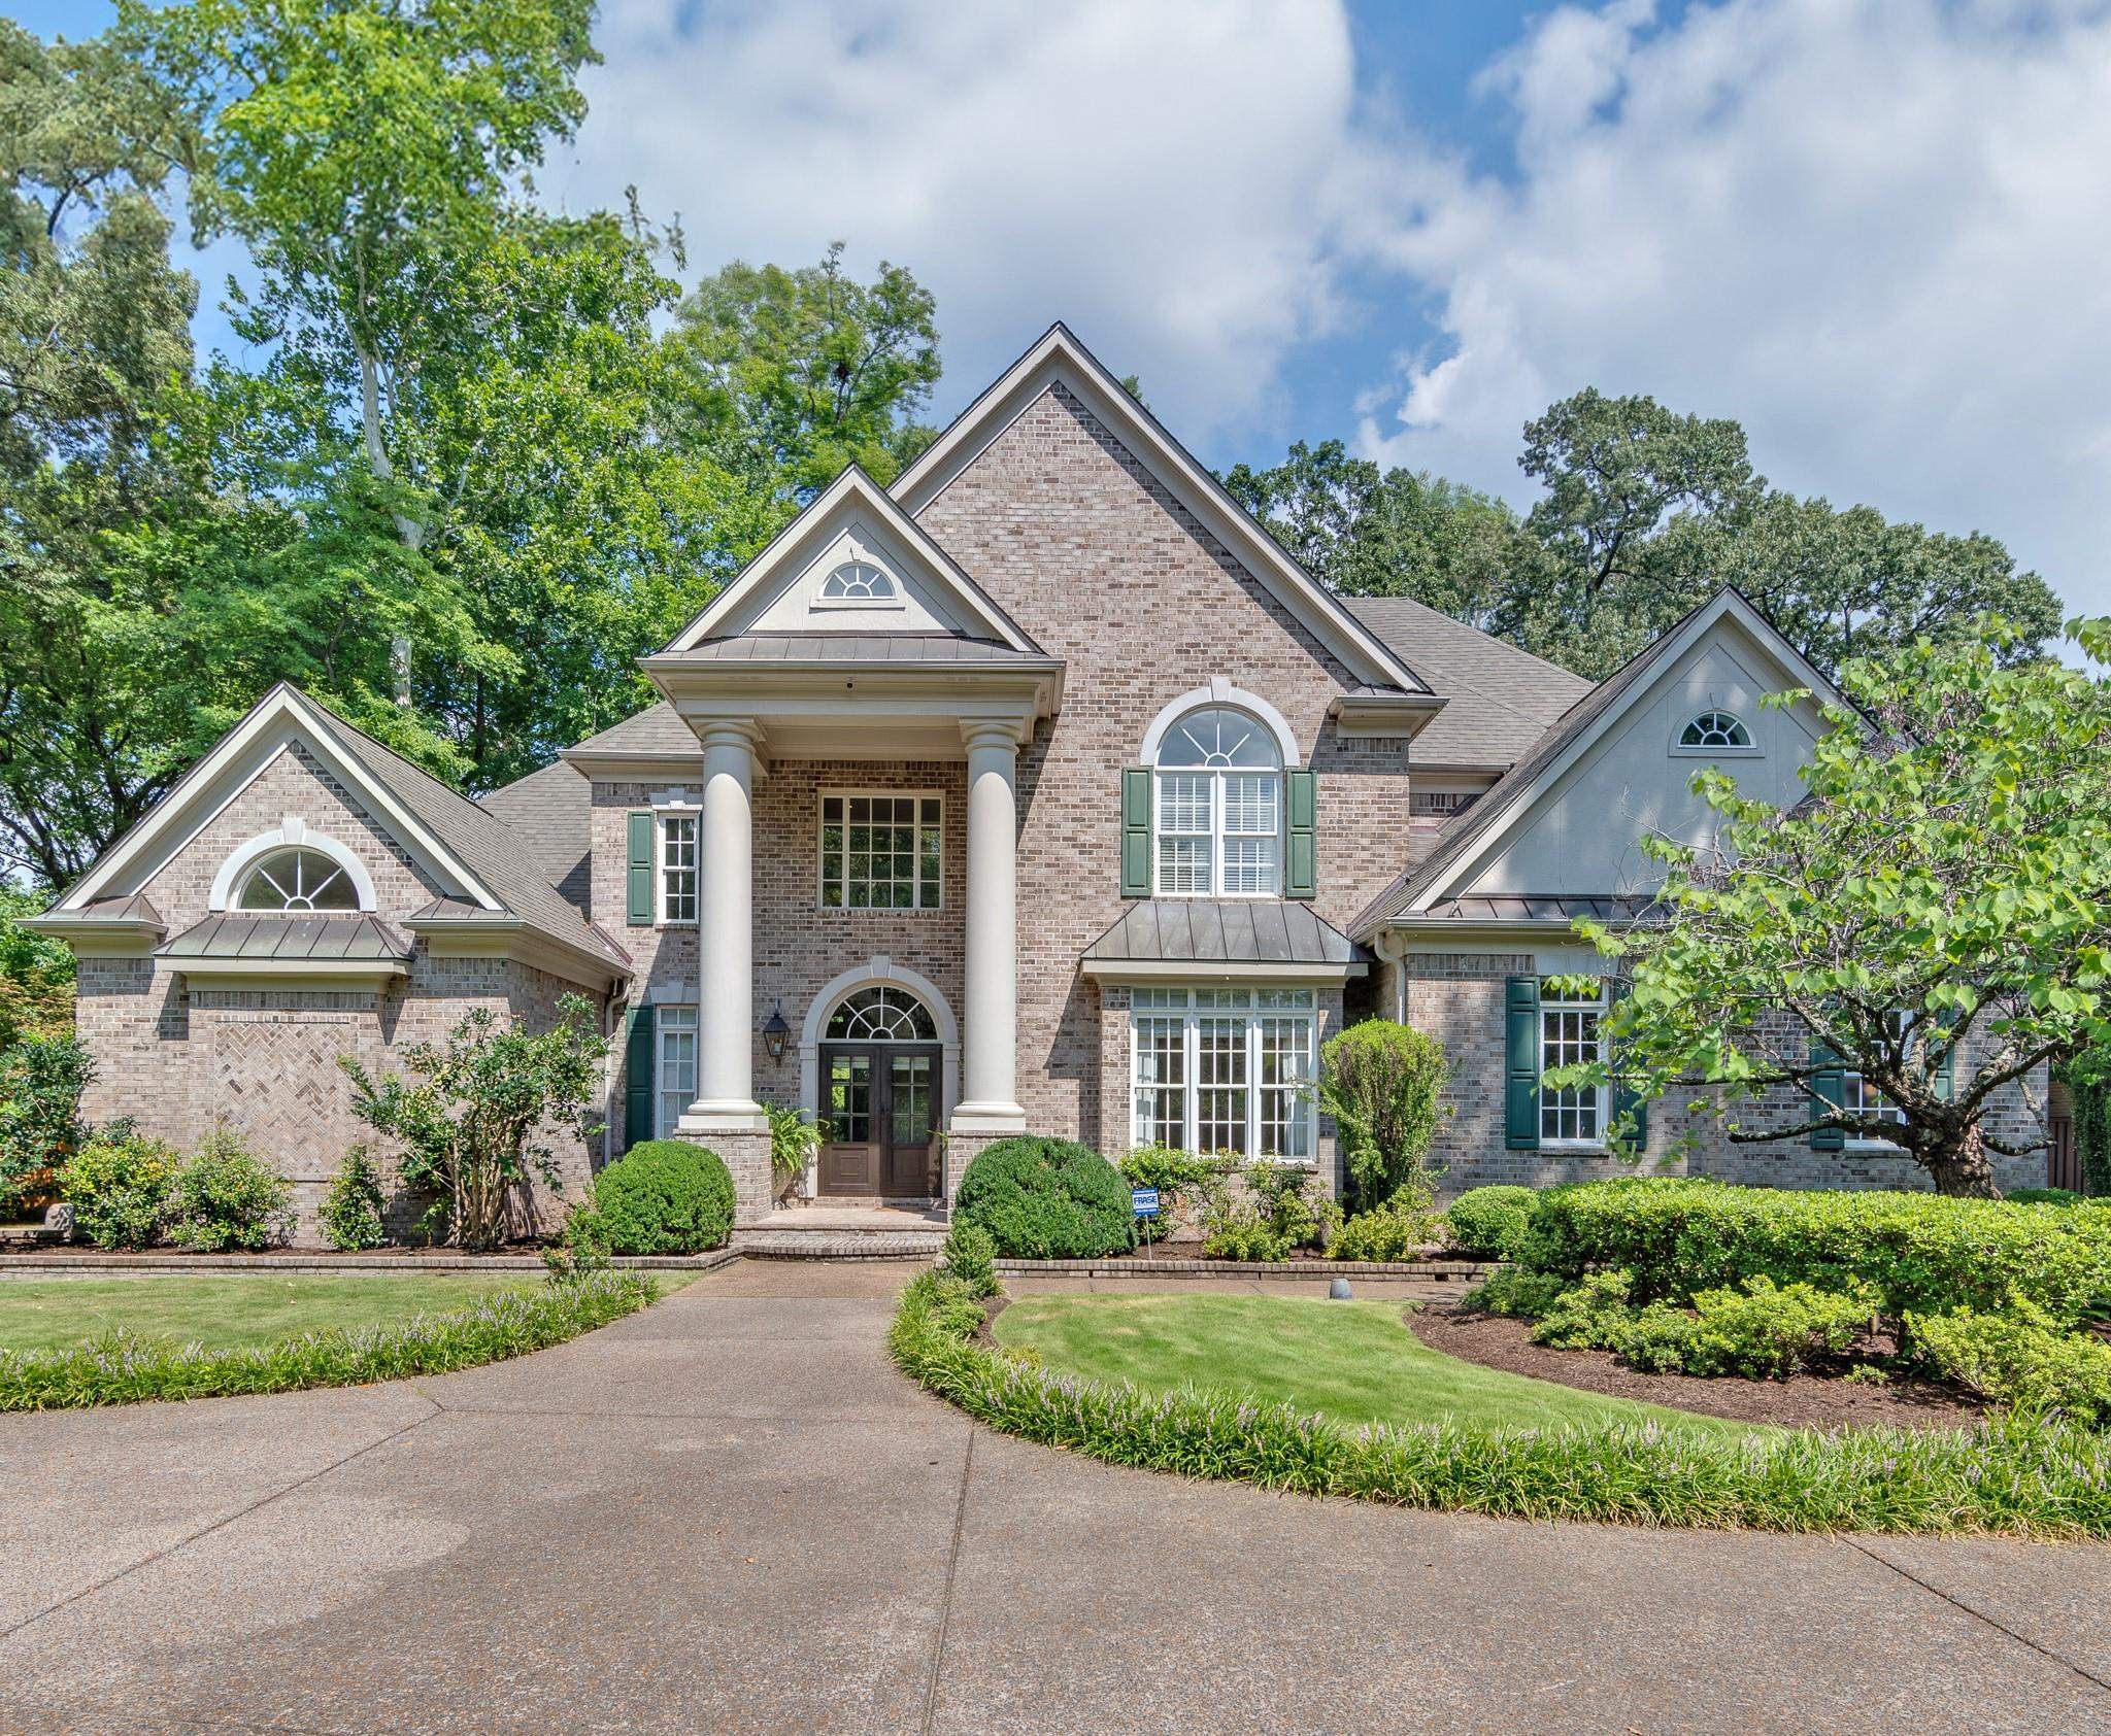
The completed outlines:
<svg viewBox="0 0 2111 1736">
<path fill-rule="evenodd" d="M 697 835 L 697 1101 L 684 1133 L 768 1129 L 756 1103 L 756 829 L 749 799 L 756 728 L 714 721 L 703 740 L 703 825 Z"/>
</svg>

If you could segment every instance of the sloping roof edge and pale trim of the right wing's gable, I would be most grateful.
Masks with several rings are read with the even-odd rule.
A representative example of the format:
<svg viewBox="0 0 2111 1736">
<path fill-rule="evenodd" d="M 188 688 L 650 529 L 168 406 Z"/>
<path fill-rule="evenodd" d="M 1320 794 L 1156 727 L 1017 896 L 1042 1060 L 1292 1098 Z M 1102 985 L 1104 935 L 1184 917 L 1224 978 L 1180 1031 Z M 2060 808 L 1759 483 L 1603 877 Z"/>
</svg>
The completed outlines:
<svg viewBox="0 0 2111 1736">
<path fill-rule="evenodd" d="M 1454 890 L 1459 869 L 1495 837 L 1511 831 L 1533 802 L 1596 742 L 1647 686 L 1647 677 L 1695 645 L 1716 622 L 1737 620 L 1754 639 L 1777 656 L 1799 688 L 1809 688 L 1820 700 L 1839 698 L 1839 690 L 1782 637 L 1742 591 L 1725 584 L 1706 603 L 1689 610 L 1682 620 L 1657 635 L 1642 652 L 1621 664 L 1611 677 L 1583 694 L 1516 766 L 1497 778 L 1486 795 L 1463 810 L 1438 837 L 1438 848 L 1421 867 L 1400 873 L 1362 915 L 1349 926 L 1357 939 L 1383 928 L 1400 915 L 1427 913 L 1431 903 Z"/>
</svg>

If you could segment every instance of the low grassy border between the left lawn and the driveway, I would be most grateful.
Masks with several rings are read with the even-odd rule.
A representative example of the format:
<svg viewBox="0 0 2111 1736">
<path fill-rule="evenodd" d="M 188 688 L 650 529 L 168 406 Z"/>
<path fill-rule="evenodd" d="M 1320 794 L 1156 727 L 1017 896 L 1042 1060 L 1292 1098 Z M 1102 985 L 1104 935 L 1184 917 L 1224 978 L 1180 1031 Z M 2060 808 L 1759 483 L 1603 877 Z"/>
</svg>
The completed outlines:
<svg viewBox="0 0 2111 1736">
<path fill-rule="evenodd" d="M 414 1314 L 357 1331 L 327 1327 L 241 1350 L 203 1350 L 127 1331 L 70 1350 L 0 1350 L 0 1411 L 228 1399 L 443 1375 L 564 1344 L 635 1314 L 654 1295 L 659 1285 L 635 1272 L 589 1272 L 538 1291 L 502 1291 L 458 1312 Z"/>
</svg>

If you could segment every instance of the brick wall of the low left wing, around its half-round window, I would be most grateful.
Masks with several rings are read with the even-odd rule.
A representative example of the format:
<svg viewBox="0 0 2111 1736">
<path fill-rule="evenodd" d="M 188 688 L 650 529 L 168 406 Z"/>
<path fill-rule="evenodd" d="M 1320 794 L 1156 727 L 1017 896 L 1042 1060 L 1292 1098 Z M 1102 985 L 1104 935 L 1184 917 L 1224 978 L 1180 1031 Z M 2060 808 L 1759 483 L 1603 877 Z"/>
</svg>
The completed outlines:
<svg viewBox="0 0 2111 1736">
<path fill-rule="evenodd" d="M 213 875 L 228 854 L 300 814 L 357 852 L 374 877 L 382 918 L 410 915 L 441 888 L 399 850 L 357 799 L 302 747 L 289 747 L 141 888 L 171 934 L 203 920 Z M 353 1118 L 338 1055 L 365 1067 L 401 1063 L 407 1044 L 437 1040 L 473 1006 L 530 1029 L 555 1019 L 576 985 L 502 958 L 435 958 L 420 941 L 410 975 L 382 994 L 289 987 L 190 985 L 156 958 L 82 958 L 76 1027 L 95 1057 L 84 1099 L 91 1120 L 131 1116 L 141 1131 L 190 1150 L 226 1120 L 243 1141 L 293 1181 L 298 1240 L 317 1240 L 315 1209 L 350 1145 L 365 1141 L 386 1171 L 393 1154 Z M 600 998 L 597 1012 L 602 1010 Z M 585 1183 L 589 1147 L 553 1129 L 568 1194 Z M 547 1226 L 557 1202 L 543 1188 L 521 1202 L 519 1228 Z M 414 1202 L 401 1200 L 407 1228 Z"/>
</svg>

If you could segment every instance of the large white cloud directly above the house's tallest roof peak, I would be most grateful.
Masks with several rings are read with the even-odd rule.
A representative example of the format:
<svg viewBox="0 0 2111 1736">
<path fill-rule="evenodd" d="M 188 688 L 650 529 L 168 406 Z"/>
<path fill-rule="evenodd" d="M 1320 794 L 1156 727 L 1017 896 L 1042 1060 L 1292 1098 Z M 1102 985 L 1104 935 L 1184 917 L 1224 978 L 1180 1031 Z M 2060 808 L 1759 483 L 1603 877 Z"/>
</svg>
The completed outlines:
<svg viewBox="0 0 2111 1736">
<path fill-rule="evenodd" d="M 937 295 L 948 403 L 1051 319 L 1191 437 L 1334 319 L 1355 80 L 1336 0 L 612 0 L 547 184 L 638 181 L 690 257 L 834 240 Z"/>
</svg>

